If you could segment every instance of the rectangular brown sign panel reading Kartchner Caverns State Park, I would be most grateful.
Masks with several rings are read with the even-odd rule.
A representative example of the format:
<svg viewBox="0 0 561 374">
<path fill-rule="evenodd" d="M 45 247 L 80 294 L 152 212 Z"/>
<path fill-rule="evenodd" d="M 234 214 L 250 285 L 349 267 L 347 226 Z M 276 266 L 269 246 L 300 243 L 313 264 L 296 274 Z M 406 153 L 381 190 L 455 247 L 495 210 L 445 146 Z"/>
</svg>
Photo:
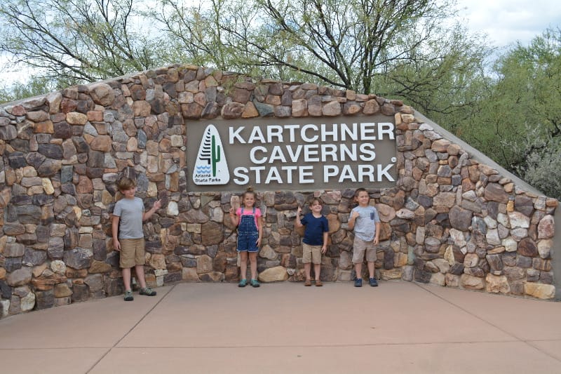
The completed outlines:
<svg viewBox="0 0 561 374">
<path fill-rule="evenodd" d="M 397 180 L 393 116 L 187 123 L 187 189 L 384 188 Z"/>
</svg>

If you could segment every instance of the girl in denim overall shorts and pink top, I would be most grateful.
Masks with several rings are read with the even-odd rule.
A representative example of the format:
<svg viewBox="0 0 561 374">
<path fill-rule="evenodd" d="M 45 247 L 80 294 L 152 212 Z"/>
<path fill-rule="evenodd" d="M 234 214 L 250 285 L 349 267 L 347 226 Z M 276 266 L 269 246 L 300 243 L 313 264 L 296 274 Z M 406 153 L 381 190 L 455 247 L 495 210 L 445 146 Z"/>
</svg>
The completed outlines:
<svg viewBox="0 0 561 374">
<path fill-rule="evenodd" d="M 245 274 L 248 271 L 248 257 L 250 258 L 251 281 L 253 287 L 259 287 L 257 281 L 257 252 L 261 244 L 262 215 L 259 208 L 255 208 L 256 194 L 248 189 L 242 195 L 242 206 L 234 214 L 234 208 L 230 208 L 232 223 L 238 226 L 238 253 L 240 253 L 241 281 L 238 287 L 245 287 L 248 280 Z"/>
</svg>

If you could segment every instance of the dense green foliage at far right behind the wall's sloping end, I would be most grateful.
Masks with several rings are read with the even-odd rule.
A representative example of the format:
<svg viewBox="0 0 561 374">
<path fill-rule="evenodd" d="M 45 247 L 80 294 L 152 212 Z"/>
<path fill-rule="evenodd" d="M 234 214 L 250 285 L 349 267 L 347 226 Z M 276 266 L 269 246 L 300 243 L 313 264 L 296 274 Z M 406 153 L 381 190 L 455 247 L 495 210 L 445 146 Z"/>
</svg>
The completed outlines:
<svg viewBox="0 0 561 374">
<path fill-rule="evenodd" d="M 561 29 L 517 43 L 494 65 L 456 133 L 549 196 L 560 197 Z"/>
</svg>

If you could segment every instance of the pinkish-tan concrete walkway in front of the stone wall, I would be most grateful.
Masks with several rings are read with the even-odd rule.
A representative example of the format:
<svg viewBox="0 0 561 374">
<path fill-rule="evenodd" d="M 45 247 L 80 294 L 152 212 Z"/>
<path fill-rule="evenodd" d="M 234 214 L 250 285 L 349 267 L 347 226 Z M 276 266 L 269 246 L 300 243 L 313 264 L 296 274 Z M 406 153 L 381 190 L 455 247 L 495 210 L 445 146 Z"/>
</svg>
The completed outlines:
<svg viewBox="0 0 561 374">
<path fill-rule="evenodd" d="M 0 320 L 0 373 L 561 373 L 561 302 L 180 283 Z"/>
</svg>

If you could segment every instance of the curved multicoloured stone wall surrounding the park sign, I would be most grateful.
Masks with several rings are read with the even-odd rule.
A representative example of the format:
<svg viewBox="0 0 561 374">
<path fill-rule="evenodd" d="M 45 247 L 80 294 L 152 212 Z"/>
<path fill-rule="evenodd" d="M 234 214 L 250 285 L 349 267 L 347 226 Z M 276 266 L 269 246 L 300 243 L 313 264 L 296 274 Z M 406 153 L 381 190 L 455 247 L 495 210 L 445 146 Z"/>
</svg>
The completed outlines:
<svg viewBox="0 0 561 374">
<path fill-rule="evenodd" d="M 123 293 L 111 247 L 115 182 L 136 178 L 151 286 L 238 279 L 230 193 L 187 191 L 184 123 L 258 116 L 394 116 L 399 180 L 370 189 L 381 218 L 380 279 L 553 298 L 557 200 L 442 138 L 403 102 L 315 84 L 174 66 L 0 107 L 0 316 Z M 368 187 L 368 186 L 365 186 Z M 325 281 L 350 281 L 353 190 L 259 192 L 262 281 L 303 279 L 298 204 L 330 221 Z"/>
</svg>

